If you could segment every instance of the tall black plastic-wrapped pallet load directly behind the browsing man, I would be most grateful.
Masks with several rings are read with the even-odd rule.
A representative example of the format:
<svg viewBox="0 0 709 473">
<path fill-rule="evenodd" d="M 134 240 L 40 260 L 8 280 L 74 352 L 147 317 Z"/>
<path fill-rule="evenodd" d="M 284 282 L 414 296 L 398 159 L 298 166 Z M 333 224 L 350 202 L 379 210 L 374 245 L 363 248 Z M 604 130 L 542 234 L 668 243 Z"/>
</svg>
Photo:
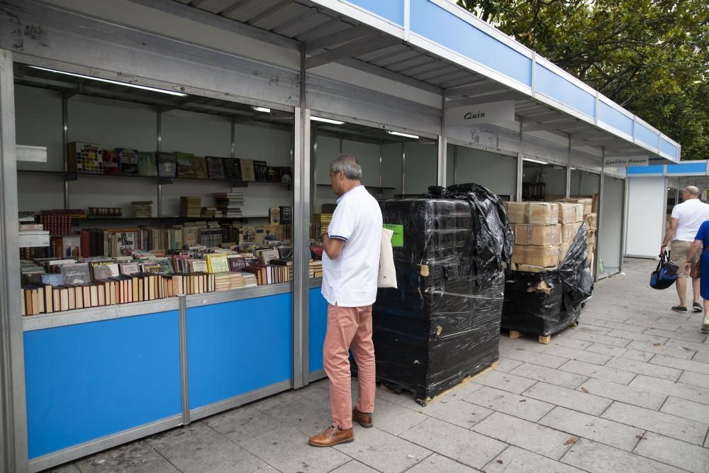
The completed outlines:
<svg viewBox="0 0 709 473">
<path fill-rule="evenodd" d="M 379 289 L 374 304 L 376 374 L 424 402 L 498 360 L 512 247 L 496 196 L 471 187 L 446 197 L 381 202 L 403 246 L 393 247 L 398 289 Z"/>
</svg>

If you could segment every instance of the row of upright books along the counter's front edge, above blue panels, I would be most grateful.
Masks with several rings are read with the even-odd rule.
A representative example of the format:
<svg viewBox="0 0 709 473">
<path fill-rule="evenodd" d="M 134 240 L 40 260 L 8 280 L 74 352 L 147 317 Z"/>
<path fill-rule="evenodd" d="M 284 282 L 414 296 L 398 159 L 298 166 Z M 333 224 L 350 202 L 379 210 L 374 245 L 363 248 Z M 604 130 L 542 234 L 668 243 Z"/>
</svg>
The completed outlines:
<svg viewBox="0 0 709 473">
<path fill-rule="evenodd" d="M 215 291 L 214 274 L 121 274 L 75 284 L 28 284 L 21 289 L 21 315 L 154 301 L 180 294 Z"/>
</svg>

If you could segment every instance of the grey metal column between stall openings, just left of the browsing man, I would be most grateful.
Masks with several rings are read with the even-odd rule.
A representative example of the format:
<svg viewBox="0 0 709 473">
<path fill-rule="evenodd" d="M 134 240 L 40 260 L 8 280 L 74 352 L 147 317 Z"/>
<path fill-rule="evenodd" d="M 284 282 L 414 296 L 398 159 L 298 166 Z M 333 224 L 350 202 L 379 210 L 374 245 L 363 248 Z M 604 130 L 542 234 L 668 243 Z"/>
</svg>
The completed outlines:
<svg viewBox="0 0 709 473">
<path fill-rule="evenodd" d="M 310 354 L 308 352 L 311 221 L 311 121 L 306 108 L 305 49 L 301 48 L 300 105 L 294 119 L 294 206 L 293 206 L 293 387 L 308 384 Z M 314 184 L 314 183 L 313 183 Z"/>
</svg>

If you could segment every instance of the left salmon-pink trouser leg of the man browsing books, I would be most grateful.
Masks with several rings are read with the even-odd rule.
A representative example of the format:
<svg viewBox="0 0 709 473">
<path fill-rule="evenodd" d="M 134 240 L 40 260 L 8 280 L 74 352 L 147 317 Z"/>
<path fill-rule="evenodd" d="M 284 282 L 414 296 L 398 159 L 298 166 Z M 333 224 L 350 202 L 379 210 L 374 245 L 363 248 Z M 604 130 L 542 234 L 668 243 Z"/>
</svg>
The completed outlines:
<svg viewBox="0 0 709 473">
<path fill-rule="evenodd" d="M 328 305 L 328 330 L 323 346 L 323 367 L 330 379 L 333 425 L 352 428 L 350 343 L 357 332 L 357 308 Z"/>
</svg>

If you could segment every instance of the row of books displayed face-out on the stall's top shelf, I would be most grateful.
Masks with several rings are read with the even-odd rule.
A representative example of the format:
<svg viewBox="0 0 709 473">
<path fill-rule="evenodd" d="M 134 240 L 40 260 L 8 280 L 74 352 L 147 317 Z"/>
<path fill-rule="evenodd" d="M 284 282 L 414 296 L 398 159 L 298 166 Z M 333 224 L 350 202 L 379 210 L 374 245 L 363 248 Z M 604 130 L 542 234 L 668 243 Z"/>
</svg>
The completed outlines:
<svg viewBox="0 0 709 473">
<path fill-rule="evenodd" d="M 195 156 L 189 152 L 144 152 L 132 148 L 104 149 L 96 143 L 69 143 L 69 171 L 82 174 L 233 179 L 246 182 L 292 182 L 288 166 L 262 160 Z"/>
</svg>

